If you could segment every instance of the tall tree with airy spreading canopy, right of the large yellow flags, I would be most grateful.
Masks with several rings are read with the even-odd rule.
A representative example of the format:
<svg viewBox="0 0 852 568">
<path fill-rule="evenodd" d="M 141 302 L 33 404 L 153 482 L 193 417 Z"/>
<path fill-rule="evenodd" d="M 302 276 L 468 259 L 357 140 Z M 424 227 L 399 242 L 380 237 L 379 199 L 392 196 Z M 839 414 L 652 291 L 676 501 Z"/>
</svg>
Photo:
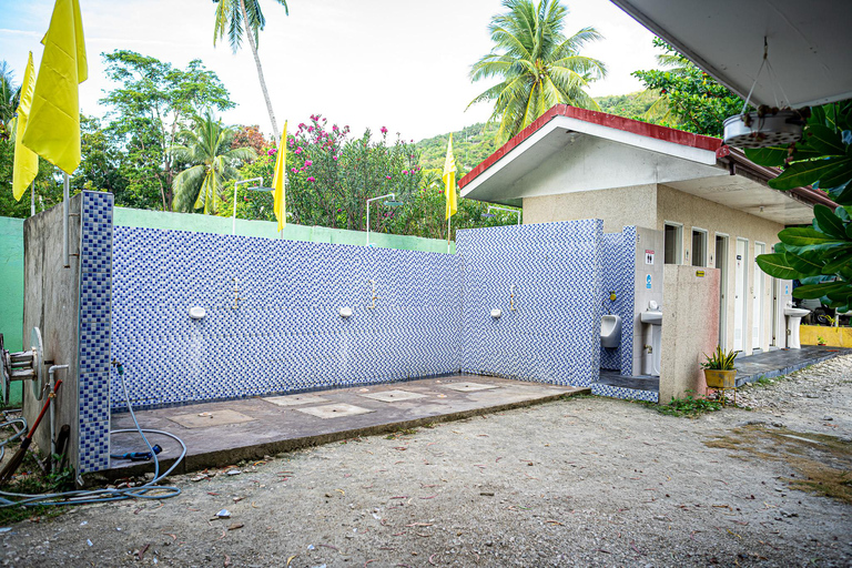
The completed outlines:
<svg viewBox="0 0 852 568">
<path fill-rule="evenodd" d="M 126 156 L 129 190 L 139 203 L 170 211 L 175 164 L 171 148 L 201 109 L 234 106 L 227 90 L 199 60 L 185 70 L 134 51 L 103 54 L 106 77 L 121 87 L 101 103 L 112 108 L 108 131 Z M 158 200 L 159 197 L 159 200 Z"/>
</svg>

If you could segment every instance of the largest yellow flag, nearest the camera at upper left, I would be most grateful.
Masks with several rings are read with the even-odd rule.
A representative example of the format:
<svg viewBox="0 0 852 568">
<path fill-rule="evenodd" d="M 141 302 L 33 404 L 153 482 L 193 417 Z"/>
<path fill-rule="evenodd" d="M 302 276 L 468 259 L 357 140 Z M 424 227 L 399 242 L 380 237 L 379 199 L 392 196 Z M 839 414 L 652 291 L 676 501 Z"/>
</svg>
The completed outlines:
<svg viewBox="0 0 852 568">
<path fill-rule="evenodd" d="M 83 21 L 78 0 L 57 0 L 44 39 L 23 145 L 71 174 L 80 164 L 80 100 L 85 81 Z"/>
</svg>

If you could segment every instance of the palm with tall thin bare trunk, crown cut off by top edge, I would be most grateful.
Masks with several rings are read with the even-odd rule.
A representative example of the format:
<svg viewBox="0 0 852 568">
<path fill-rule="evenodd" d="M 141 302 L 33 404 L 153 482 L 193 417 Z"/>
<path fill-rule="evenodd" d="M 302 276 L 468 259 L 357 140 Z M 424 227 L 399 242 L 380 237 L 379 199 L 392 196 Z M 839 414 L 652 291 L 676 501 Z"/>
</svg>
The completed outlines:
<svg viewBox="0 0 852 568">
<path fill-rule="evenodd" d="M 283 6 L 285 13 L 290 16 L 287 1 L 275 1 Z M 251 45 L 252 55 L 254 55 L 254 64 L 257 68 L 257 78 L 261 80 L 261 90 L 263 91 L 263 98 L 266 100 L 266 110 L 270 113 L 270 122 L 272 122 L 272 135 L 277 142 L 281 136 L 278 123 L 275 121 L 275 113 L 272 110 L 270 92 L 266 89 L 266 80 L 263 78 L 261 58 L 257 57 L 257 32 L 266 26 L 266 18 L 263 17 L 261 4 L 258 0 L 213 0 L 213 2 L 216 4 L 213 45 L 215 47 L 216 40 L 224 38 L 225 33 L 227 33 L 231 49 L 236 53 L 236 50 L 240 49 L 240 43 L 243 40 L 243 33 L 248 38 L 248 45 Z"/>
</svg>

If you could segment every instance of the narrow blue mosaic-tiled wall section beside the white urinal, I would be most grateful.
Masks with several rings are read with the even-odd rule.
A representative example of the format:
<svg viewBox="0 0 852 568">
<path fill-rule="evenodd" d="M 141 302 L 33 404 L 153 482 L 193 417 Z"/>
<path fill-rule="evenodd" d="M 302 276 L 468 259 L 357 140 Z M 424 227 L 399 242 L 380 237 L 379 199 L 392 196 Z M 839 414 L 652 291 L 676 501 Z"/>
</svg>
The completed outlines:
<svg viewBox="0 0 852 568">
<path fill-rule="evenodd" d="M 601 278 L 602 313 L 621 317 L 621 341 L 616 348 L 600 347 L 600 367 L 632 375 L 636 226 L 601 239 Z M 609 301 L 610 291 L 616 293 L 615 302 Z"/>
</svg>

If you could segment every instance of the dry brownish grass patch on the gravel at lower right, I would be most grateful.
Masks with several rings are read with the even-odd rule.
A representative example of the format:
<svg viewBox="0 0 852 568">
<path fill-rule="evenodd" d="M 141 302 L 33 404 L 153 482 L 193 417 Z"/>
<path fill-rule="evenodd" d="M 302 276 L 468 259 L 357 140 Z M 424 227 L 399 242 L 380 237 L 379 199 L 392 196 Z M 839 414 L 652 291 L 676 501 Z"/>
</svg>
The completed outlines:
<svg viewBox="0 0 852 568">
<path fill-rule="evenodd" d="M 852 444 L 835 436 L 749 425 L 704 445 L 760 460 L 781 462 L 795 471 L 781 478 L 791 489 L 852 505 Z"/>
</svg>

